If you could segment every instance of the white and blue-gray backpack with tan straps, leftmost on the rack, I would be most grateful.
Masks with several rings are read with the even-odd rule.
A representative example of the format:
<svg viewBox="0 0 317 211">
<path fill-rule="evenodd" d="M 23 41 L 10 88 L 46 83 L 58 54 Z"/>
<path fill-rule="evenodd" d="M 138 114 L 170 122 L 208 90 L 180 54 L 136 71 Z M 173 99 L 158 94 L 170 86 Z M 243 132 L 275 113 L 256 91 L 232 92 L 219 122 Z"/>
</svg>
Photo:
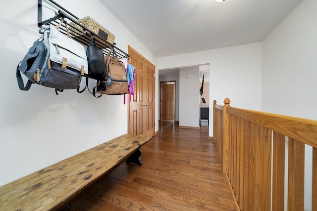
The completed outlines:
<svg viewBox="0 0 317 211">
<path fill-rule="evenodd" d="M 88 73 L 84 46 L 70 38 L 66 23 L 67 36 L 58 31 L 62 23 L 63 19 L 56 27 L 46 25 L 44 35 L 34 42 L 19 63 L 16 78 L 21 90 L 29 90 L 32 84 L 59 91 L 76 89 L 81 77 Z M 25 86 L 21 73 L 29 79 Z"/>
</svg>

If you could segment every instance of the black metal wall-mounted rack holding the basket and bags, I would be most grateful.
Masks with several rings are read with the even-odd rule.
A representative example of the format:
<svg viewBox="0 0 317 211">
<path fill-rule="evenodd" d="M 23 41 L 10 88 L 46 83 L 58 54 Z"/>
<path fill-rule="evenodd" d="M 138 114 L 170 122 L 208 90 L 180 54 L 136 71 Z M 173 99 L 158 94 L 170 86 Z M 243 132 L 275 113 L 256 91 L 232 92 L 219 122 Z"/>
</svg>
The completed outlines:
<svg viewBox="0 0 317 211">
<path fill-rule="evenodd" d="M 61 19 L 64 18 L 64 22 L 67 24 L 67 27 L 69 29 L 69 31 L 71 31 L 70 35 L 73 39 L 77 40 L 78 42 L 84 43 L 84 44 L 89 44 L 91 43 L 91 35 L 94 38 L 99 38 L 104 42 L 99 42 L 98 40 L 96 40 L 96 46 L 98 46 L 100 49 L 102 49 L 104 51 L 105 54 L 108 54 L 110 52 L 111 49 L 114 49 L 116 56 L 120 59 L 122 58 L 128 58 L 130 55 L 125 53 L 124 51 L 122 51 L 121 49 L 119 49 L 118 47 L 115 46 L 115 42 L 110 43 L 107 42 L 104 38 L 100 37 L 98 34 L 92 32 L 91 30 L 89 30 L 88 28 L 86 28 L 85 26 L 83 26 L 82 24 L 78 23 L 78 17 L 76 17 L 74 14 L 72 14 L 71 12 L 69 12 L 68 10 L 66 10 L 65 8 L 63 8 L 62 6 L 60 6 L 58 3 L 56 3 L 53 0 L 46 0 L 51 2 L 54 7 L 56 7 L 58 9 L 58 11 L 56 12 L 55 10 L 53 10 L 52 8 L 49 8 L 51 10 L 54 11 L 55 16 L 52 18 L 49 18 L 47 20 L 42 20 L 42 10 L 43 10 L 43 4 L 42 4 L 42 0 L 38 0 L 38 27 L 42 28 L 42 25 L 45 25 L 47 23 L 51 23 L 54 26 L 56 26 L 58 23 L 61 22 Z M 47 7 L 47 6 L 45 6 Z M 81 27 L 83 30 L 79 30 L 78 28 L 74 28 L 72 25 L 70 25 L 69 23 L 75 23 L 77 26 Z M 64 26 L 64 24 L 62 24 L 59 27 L 59 31 L 63 34 L 66 35 L 66 28 Z"/>
</svg>

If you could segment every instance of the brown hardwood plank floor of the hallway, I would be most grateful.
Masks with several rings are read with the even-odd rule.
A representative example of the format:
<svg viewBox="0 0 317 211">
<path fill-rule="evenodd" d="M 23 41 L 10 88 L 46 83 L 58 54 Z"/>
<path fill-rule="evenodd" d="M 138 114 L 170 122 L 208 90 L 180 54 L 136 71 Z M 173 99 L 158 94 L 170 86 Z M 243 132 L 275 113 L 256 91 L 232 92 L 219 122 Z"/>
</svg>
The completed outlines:
<svg viewBox="0 0 317 211">
<path fill-rule="evenodd" d="M 63 211 L 237 210 L 208 127 L 160 123 L 141 159 L 143 166 L 123 163 Z"/>
</svg>

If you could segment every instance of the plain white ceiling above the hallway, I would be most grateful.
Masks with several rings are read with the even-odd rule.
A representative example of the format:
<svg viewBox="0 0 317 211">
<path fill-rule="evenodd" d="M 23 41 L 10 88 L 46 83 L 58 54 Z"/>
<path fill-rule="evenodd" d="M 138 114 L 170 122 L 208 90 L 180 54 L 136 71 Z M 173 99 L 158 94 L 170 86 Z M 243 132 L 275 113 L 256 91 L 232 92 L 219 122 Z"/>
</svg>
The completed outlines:
<svg viewBox="0 0 317 211">
<path fill-rule="evenodd" d="M 100 0 L 156 57 L 261 42 L 302 0 Z"/>
</svg>

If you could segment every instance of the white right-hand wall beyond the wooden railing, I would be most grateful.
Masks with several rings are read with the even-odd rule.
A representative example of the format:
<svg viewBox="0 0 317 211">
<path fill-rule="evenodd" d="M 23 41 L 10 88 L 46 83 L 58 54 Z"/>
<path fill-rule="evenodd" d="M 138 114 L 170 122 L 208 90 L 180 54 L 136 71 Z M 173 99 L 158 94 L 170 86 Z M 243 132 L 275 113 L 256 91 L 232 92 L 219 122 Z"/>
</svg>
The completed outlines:
<svg viewBox="0 0 317 211">
<path fill-rule="evenodd" d="M 317 120 L 316 11 L 317 0 L 303 0 L 263 41 L 263 111 Z M 304 210 L 309 211 L 312 148 L 305 151 Z"/>
</svg>

